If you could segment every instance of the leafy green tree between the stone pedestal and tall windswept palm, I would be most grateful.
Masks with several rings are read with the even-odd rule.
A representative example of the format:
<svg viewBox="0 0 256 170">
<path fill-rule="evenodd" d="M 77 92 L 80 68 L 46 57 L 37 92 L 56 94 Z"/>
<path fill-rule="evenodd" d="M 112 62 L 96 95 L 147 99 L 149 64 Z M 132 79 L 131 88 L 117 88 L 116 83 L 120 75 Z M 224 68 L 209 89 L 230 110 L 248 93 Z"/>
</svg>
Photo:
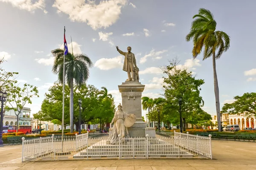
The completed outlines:
<svg viewBox="0 0 256 170">
<path fill-rule="evenodd" d="M 186 68 L 177 67 L 177 58 L 170 61 L 170 65 L 163 68 L 167 77 L 164 77 L 164 96 L 166 104 L 163 105 L 163 114 L 170 115 L 170 122 L 178 124 L 179 102 L 182 97 L 181 112 L 183 120 L 183 129 L 186 129 L 186 123 L 189 116 L 194 111 L 198 111 L 204 106 L 204 101 L 200 96 L 200 86 L 204 84 L 203 79 L 195 79 L 192 72 L 187 72 Z"/>
</svg>

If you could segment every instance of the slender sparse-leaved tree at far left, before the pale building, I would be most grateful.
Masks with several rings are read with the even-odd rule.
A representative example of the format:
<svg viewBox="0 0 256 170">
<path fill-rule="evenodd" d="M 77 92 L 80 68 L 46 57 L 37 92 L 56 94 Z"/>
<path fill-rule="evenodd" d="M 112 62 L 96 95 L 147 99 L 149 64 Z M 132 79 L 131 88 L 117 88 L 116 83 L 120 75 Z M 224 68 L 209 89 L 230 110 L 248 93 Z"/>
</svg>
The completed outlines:
<svg viewBox="0 0 256 170">
<path fill-rule="evenodd" d="M 29 84 L 24 84 L 22 88 L 20 88 L 16 83 L 9 84 L 7 89 L 7 102 L 6 110 L 13 110 L 15 115 L 17 116 L 17 125 L 19 125 L 19 115 L 24 105 L 32 104 L 33 97 L 39 97 L 37 87 Z M 16 130 L 18 132 L 18 128 Z"/>
</svg>

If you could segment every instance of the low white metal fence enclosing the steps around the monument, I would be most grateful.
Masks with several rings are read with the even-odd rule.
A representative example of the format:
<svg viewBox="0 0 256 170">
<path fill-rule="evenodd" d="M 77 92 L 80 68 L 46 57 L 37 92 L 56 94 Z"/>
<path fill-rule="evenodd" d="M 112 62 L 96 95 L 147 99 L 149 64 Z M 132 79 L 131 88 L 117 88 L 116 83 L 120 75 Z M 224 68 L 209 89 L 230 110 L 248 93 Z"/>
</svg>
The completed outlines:
<svg viewBox="0 0 256 170">
<path fill-rule="evenodd" d="M 119 138 L 110 144 L 108 133 L 84 133 L 76 136 L 54 135 L 24 139 L 22 161 L 60 159 L 149 159 L 211 158 L 211 137 L 186 133 L 156 132 L 156 137 Z"/>
</svg>

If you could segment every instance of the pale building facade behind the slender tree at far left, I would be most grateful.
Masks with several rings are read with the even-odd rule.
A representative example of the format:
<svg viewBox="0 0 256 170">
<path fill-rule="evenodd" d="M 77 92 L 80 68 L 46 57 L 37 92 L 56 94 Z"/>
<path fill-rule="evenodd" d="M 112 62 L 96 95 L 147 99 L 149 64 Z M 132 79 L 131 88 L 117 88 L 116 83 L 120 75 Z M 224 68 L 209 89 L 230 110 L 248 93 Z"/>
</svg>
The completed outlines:
<svg viewBox="0 0 256 170">
<path fill-rule="evenodd" d="M 31 125 L 32 118 L 30 117 L 31 116 L 30 112 L 31 112 L 30 108 L 23 107 L 21 109 L 21 112 L 18 116 L 19 125 Z M 3 116 L 3 125 L 5 126 L 17 125 L 17 116 L 15 115 L 14 110 L 5 111 L 5 114 Z"/>
</svg>

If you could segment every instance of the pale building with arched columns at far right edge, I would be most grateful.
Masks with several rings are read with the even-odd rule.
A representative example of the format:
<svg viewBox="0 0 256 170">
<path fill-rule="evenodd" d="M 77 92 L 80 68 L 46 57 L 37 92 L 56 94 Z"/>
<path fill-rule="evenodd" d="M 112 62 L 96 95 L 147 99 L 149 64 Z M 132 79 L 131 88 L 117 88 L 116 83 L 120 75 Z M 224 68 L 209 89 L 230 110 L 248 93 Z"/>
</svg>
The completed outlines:
<svg viewBox="0 0 256 170">
<path fill-rule="evenodd" d="M 240 115 L 229 115 L 230 125 L 239 125 L 240 129 L 243 130 L 244 127 L 255 128 L 256 117 L 255 116 L 245 116 L 244 113 Z"/>
</svg>

